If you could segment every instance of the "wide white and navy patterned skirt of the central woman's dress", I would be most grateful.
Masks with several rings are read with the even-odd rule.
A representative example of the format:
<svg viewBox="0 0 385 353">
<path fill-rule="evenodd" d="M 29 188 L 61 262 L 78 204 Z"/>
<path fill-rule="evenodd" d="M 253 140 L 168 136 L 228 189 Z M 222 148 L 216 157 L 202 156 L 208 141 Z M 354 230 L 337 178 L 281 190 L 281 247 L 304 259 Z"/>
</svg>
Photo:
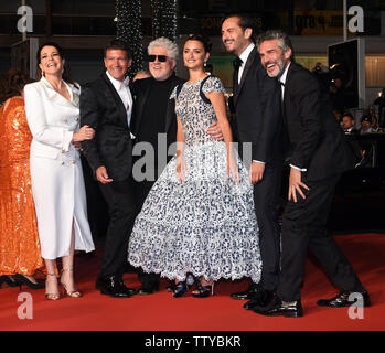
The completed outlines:
<svg viewBox="0 0 385 353">
<path fill-rule="evenodd" d="M 248 171 L 237 159 L 240 184 L 226 174 L 224 142 L 186 146 L 185 182 L 173 158 L 149 192 L 129 240 L 128 260 L 146 272 L 184 280 L 261 274 L 258 225 Z"/>
</svg>

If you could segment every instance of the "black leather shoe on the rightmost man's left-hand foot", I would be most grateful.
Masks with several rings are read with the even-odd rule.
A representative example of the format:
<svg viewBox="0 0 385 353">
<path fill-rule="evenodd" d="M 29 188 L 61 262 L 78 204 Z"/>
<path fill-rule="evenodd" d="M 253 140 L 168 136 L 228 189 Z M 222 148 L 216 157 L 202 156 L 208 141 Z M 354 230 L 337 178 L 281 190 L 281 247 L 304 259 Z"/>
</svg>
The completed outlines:
<svg viewBox="0 0 385 353">
<path fill-rule="evenodd" d="M 265 317 L 286 317 L 286 318 L 301 318 L 303 317 L 303 310 L 301 302 L 284 302 L 277 296 L 270 300 L 265 307 L 254 307 L 253 311 L 255 313 L 265 315 Z"/>
</svg>

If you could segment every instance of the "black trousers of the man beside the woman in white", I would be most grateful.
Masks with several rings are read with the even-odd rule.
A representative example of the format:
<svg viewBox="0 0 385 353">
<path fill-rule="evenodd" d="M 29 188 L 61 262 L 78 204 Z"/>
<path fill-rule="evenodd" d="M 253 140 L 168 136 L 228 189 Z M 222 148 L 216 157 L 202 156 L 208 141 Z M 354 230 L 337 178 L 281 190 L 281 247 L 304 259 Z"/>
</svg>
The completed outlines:
<svg viewBox="0 0 385 353">
<path fill-rule="evenodd" d="M 99 278 L 121 276 L 128 257 L 128 239 L 136 217 L 133 180 L 99 183 L 107 203 L 109 223 Z"/>
</svg>

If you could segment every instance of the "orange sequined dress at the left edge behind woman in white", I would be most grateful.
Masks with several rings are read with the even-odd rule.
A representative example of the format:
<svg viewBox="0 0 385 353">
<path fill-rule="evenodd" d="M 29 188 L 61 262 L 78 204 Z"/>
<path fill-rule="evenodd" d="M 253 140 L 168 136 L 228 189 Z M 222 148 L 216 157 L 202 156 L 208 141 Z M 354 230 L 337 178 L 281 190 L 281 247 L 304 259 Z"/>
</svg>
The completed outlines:
<svg viewBox="0 0 385 353">
<path fill-rule="evenodd" d="M 0 276 L 34 275 L 44 266 L 31 191 L 24 99 L 0 107 Z"/>
</svg>

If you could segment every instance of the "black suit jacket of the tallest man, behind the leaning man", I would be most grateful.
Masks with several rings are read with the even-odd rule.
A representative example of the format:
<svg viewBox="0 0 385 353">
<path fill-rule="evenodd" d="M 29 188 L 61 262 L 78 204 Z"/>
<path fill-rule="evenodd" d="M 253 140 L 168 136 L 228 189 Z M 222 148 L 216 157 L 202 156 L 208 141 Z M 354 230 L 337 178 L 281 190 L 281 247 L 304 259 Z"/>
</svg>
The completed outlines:
<svg viewBox="0 0 385 353">
<path fill-rule="evenodd" d="M 270 163 L 282 160 L 284 126 L 280 87 L 260 63 L 257 49 L 249 54 L 238 89 L 234 93 L 239 142 L 252 142 L 252 159 Z"/>
</svg>

